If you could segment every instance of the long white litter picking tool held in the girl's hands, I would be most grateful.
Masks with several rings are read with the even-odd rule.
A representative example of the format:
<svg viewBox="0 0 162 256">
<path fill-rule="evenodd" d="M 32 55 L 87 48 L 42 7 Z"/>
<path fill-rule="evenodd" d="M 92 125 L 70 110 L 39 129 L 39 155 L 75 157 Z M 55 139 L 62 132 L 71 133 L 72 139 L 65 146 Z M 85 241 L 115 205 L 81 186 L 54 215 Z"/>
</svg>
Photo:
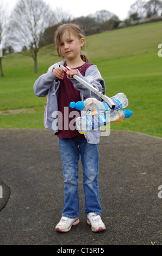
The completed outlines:
<svg viewBox="0 0 162 256">
<path fill-rule="evenodd" d="M 68 73 L 69 70 L 71 70 L 68 66 L 65 67 L 63 65 L 59 65 L 59 67 L 63 69 L 63 71 L 66 72 L 66 74 Z M 76 79 L 79 83 L 82 83 L 86 88 L 90 89 L 97 96 L 101 97 L 102 100 L 108 103 L 111 109 L 115 108 L 114 102 L 107 95 L 104 95 L 101 92 L 99 92 L 95 87 L 91 86 L 91 84 L 87 83 L 79 76 L 73 75 L 73 78 Z"/>
</svg>

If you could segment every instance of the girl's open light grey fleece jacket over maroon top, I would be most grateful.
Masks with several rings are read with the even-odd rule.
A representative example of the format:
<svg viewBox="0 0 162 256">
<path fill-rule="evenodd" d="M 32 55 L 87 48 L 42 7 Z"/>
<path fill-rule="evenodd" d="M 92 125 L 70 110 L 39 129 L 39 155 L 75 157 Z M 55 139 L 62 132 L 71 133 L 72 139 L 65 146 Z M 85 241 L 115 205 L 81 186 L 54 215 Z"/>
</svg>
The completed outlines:
<svg viewBox="0 0 162 256">
<path fill-rule="evenodd" d="M 41 75 L 34 83 L 35 95 L 39 97 L 47 96 L 44 125 L 46 129 L 52 130 L 54 133 L 58 132 L 58 127 L 55 124 L 58 123 L 58 94 L 60 81 L 57 77 L 54 77 L 52 70 L 59 65 L 64 65 L 64 63 L 65 62 L 62 61 L 50 66 L 47 73 Z M 78 76 L 90 83 L 100 92 L 105 92 L 105 83 L 96 65 L 89 66 L 89 68 L 85 71 L 85 76 L 82 76 L 78 70 Z M 90 89 L 86 88 L 83 84 L 80 84 L 74 78 L 69 79 L 73 83 L 74 87 L 80 91 L 82 101 L 88 97 L 96 97 L 96 99 L 101 100 L 95 93 L 91 92 Z M 99 130 L 85 133 L 85 138 L 90 144 L 98 144 L 99 136 Z"/>
</svg>

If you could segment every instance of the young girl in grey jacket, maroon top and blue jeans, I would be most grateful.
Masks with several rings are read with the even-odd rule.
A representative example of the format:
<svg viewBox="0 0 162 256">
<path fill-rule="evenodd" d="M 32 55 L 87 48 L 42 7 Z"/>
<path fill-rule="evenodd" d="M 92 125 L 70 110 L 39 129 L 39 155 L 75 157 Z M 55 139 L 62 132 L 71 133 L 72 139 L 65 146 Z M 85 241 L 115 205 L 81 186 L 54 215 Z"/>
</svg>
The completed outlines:
<svg viewBox="0 0 162 256">
<path fill-rule="evenodd" d="M 92 231 L 102 231 L 101 204 L 98 189 L 98 143 L 99 131 L 80 134 L 70 129 L 69 107 L 71 101 L 97 97 L 88 88 L 73 78 L 78 75 L 98 90 L 105 91 L 104 81 L 96 65 L 90 64 L 81 52 L 84 36 L 78 25 L 64 24 L 55 32 L 55 45 L 63 61 L 52 65 L 47 74 L 41 75 L 34 84 L 37 96 L 46 96 L 44 123 L 46 129 L 53 130 L 59 137 L 61 161 L 64 174 L 64 209 L 55 230 L 67 232 L 79 223 L 78 161 L 81 156 L 83 166 L 83 187 L 85 194 L 85 215 Z M 69 74 L 59 65 L 71 68 Z M 80 112 L 78 111 L 78 116 Z"/>
</svg>

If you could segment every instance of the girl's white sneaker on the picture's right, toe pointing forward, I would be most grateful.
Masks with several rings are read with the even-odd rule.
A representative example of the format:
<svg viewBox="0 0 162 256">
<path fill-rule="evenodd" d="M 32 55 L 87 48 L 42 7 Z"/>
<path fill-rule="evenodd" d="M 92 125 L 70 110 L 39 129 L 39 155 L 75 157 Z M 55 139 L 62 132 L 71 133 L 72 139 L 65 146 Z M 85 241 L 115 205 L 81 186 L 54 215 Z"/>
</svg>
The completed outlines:
<svg viewBox="0 0 162 256">
<path fill-rule="evenodd" d="M 99 215 L 94 214 L 94 212 L 89 212 L 87 215 L 87 223 L 91 225 L 91 229 L 94 232 L 105 230 L 106 227 L 101 220 Z"/>
</svg>

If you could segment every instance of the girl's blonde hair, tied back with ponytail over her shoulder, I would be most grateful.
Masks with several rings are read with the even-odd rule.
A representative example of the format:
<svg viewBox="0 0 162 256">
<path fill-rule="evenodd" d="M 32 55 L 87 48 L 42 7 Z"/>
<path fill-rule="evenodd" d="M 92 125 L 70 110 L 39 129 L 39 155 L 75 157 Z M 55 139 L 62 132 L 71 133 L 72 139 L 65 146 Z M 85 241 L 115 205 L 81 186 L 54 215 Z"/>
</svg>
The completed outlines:
<svg viewBox="0 0 162 256">
<path fill-rule="evenodd" d="M 55 46 L 57 47 L 57 52 L 61 59 L 63 59 L 63 56 L 61 55 L 61 51 L 60 51 L 60 40 L 61 40 L 61 36 L 63 35 L 63 33 L 66 30 L 68 32 L 73 33 L 75 36 L 77 36 L 78 39 L 85 37 L 82 33 L 82 29 L 77 24 L 66 23 L 66 24 L 59 26 L 54 35 L 54 43 L 55 43 Z M 82 51 L 80 52 L 80 57 L 83 60 L 83 62 L 89 62 L 88 57 Z"/>
</svg>

